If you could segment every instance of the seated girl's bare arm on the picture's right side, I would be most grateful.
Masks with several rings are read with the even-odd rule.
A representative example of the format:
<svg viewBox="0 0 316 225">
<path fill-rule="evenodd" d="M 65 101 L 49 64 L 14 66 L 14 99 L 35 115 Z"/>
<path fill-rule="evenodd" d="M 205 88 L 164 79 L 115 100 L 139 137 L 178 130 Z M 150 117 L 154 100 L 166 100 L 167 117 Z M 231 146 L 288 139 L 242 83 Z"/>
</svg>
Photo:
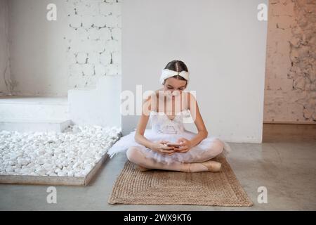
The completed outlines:
<svg viewBox="0 0 316 225">
<path fill-rule="evenodd" d="M 208 136 L 208 131 L 203 122 L 201 113 L 199 113 L 199 106 L 197 105 L 197 100 L 195 97 L 188 92 L 187 96 L 187 108 L 190 109 L 192 118 L 195 118 L 195 126 L 197 126 L 197 135 L 190 140 L 192 146 L 197 146 L 203 139 Z M 194 116 L 195 115 L 195 116 Z"/>
</svg>

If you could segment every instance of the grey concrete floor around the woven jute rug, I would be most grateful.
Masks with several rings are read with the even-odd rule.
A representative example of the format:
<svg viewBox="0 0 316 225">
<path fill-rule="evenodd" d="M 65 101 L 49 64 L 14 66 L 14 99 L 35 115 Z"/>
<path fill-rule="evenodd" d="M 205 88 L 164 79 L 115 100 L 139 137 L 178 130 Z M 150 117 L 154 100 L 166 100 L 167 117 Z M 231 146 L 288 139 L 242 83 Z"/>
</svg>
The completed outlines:
<svg viewBox="0 0 316 225">
<path fill-rule="evenodd" d="M 230 143 L 228 162 L 254 201 L 252 207 L 109 205 L 107 199 L 126 155 L 107 160 L 86 187 L 57 186 L 57 204 L 46 203 L 48 186 L 0 185 L 0 210 L 316 210 L 316 142 Z M 257 202 L 258 187 L 268 203 Z"/>
</svg>

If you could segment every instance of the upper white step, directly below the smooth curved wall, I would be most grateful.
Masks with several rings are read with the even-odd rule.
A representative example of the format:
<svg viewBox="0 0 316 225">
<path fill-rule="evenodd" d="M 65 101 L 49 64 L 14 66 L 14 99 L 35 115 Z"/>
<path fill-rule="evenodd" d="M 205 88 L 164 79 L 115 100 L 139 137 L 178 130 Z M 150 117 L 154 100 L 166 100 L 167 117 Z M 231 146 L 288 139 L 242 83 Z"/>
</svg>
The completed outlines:
<svg viewBox="0 0 316 225">
<path fill-rule="evenodd" d="M 6 96 L 0 98 L 0 121 L 69 120 L 67 97 Z"/>
</svg>

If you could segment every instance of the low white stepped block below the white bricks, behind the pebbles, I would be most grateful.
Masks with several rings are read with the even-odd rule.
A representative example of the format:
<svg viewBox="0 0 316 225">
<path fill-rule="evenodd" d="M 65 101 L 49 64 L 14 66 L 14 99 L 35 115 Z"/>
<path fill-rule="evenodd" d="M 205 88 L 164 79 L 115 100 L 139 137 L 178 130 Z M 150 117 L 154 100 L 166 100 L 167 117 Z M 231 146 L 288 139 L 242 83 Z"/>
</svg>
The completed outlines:
<svg viewBox="0 0 316 225">
<path fill-rule="evenodd" d="M 121 127 L 121 76 L 104 76 L 96 89 L 68 92 L 70 119 L 74 124 Z"/>
</svg>

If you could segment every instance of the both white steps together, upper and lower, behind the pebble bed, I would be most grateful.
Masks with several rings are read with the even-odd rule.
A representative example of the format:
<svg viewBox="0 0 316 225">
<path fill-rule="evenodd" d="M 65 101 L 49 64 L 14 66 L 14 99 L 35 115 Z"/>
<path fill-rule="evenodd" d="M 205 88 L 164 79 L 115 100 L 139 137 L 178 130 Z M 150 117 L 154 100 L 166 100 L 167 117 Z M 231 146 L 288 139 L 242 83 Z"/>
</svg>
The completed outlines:
<svg viewBox="0 0 316 225">
<path fill-rule="evenodd" d="M 62 132 L 70 124 L 67 97 L 0 97 L 0 130 Z"/>
</svg>

